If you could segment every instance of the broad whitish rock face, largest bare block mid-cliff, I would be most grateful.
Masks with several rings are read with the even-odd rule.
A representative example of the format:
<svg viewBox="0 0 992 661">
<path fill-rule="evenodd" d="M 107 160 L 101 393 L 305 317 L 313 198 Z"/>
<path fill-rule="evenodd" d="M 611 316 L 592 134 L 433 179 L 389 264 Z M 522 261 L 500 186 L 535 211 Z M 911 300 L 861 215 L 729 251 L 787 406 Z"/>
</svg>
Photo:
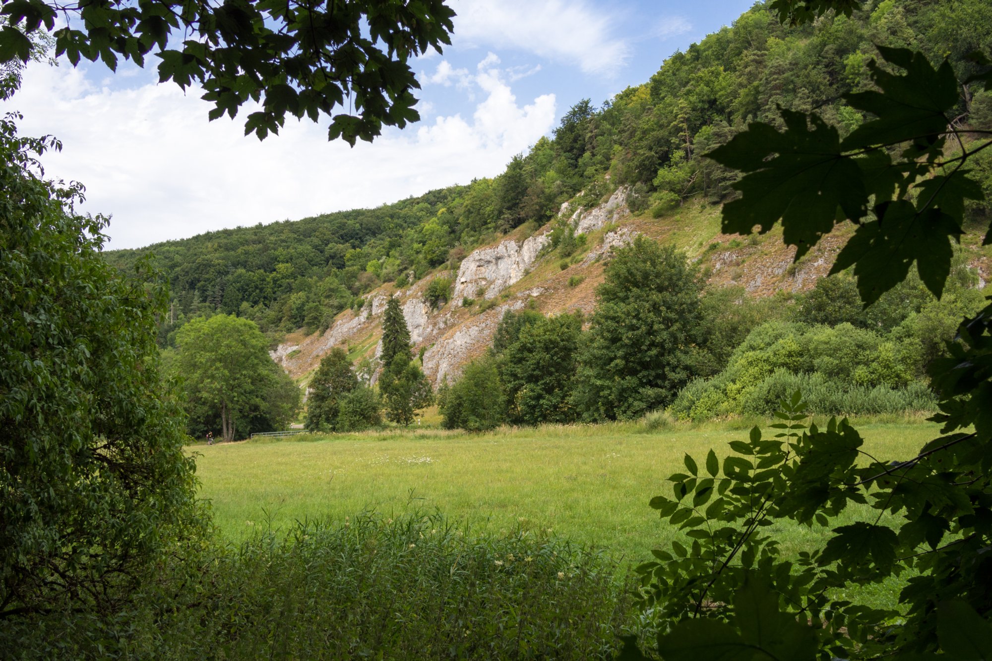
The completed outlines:
<svg viewBox="0 0 992 661">
<path fill-rule="evenodd" d="M 461 262 L 451 294 L 452 306 L 461 305 L 464 297 L 475 298 L 475 292 L 483 289 L 485 298 L 493 298 L 525 274 L 534 265 L 541 249 L 551 239 L 547 234 L 533 236 L 523 244 L 512 239 L 503 241 L 492 248 L 480 248 Z"/>
</svg>

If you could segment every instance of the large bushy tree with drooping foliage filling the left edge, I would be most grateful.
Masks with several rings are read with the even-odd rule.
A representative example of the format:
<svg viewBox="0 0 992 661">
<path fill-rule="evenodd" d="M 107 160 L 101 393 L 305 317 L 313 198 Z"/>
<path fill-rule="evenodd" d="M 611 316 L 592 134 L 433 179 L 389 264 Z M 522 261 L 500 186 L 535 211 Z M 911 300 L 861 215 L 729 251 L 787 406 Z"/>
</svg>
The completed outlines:
<svg viewBox="0 0 992 661">
<path fill-rule="evenodd" d="M 112 608 L 201 520 L 155 346 L 167 288 L 101 255 L 106 219 L 0 119 L 0 620 Z"/>
</svg>

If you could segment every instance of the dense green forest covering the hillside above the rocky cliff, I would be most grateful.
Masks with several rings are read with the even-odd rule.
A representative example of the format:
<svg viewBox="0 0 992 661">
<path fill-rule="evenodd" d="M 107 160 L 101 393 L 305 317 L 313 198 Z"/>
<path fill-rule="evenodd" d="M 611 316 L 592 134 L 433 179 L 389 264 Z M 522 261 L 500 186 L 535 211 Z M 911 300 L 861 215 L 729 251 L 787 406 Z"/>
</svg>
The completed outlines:
<svg viewBox="0 0 992 661">
<path fill-rule="evenodd" d="M 732 27 L 669 57 L 644 84 L 601 106 L 576 103 L 552 138 L 492 179 L 375 209 L 111 251 L 107 259 L 128 268 L 151 252 L 167 272 L 173 306 L 162 345 L 173 344 L 171 334 L 189 318 L 214 312 L 254 320 L 267 332 L 322 329 L 380 283 L 402 286 L 456 268 L 501 233 L 544 225 L 580 192 L 575 201 L 588 206 L 627 184 L 632 210 L 656 216 L 691 196 L 726 200 L 736 175 L 703 155 L 749 122 L 781 128 L 780 107 L 815 109 L 841 137 L 849 134 L 864 118 L 841 95 L 872 87 L 875 44 L 919 49 L 933 61 L 947 56 L 963 78 L 975 69 L 965 55 L 992 47 L 992 9 L 983 0 L 884 0 L 850 18 L 827 14 L 790 27 L 758 3 Z M 992 93 L 968 92 L 955 114 L 960 126 L 992 126 Z M 974 168 L 992 192 L 987 152 Z M 988 213 L 985 202 L 969 208 L 973 219 Z M 564 227 L 554 236 L 569 239 Z"/>
</svg>

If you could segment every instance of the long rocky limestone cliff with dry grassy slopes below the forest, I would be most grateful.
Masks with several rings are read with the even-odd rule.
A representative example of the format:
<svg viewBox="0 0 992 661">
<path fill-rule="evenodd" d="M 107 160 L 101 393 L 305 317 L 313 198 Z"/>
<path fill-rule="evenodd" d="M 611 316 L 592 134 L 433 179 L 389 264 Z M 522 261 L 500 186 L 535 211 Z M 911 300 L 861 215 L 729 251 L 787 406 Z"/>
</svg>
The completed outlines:
<svg viewBox="0 0 992 661">
<path fill-rule="evenodd" d="M 639 234 L 684 250 L 711 283 L 742 284 L 752 295 L 809 288 L 826 274 L 847 238 L 842 232 L 826 237 L 793 265 L 794 249 L 784 247 L 778 237 L 744 240 L 720 234 L 718 207 L 690 201 L 656 219 L 632 214 L 628 193 L 621 186 L 591 209 L 572 211 L 571 205 L 562 205 L 561 218 L 586 237 L 584 246 L 572 255 L 550 250 L 553 223 L 561 222 L 556 219 L 529 237 L 511 235 L 472 251 L 456 274 L 428 275 L 402 289 L 384 284 L 366 296 L 364 307 L 345 310 L 322 334 L 287 336 L 272 357 L 302 382 L 335 346 L 343 347 L 356 362 L 374 359 L 380 351 L 382 314 L 389 297 L 396 295 L 411 341 L 422 352 L 424 371 L 436 385 L 445 377 L 449 382 L 456 379 L 466 363 L 489 347 L 506 310 L 527 305 L 546 314 L 591 313 L 605 263 Z M 424 292 L 440 275 L 453 278 L 453 290 L 450 302 L 434 309 Z M 475 300 L 466 306 L 463 299 Z"/>
</svg>

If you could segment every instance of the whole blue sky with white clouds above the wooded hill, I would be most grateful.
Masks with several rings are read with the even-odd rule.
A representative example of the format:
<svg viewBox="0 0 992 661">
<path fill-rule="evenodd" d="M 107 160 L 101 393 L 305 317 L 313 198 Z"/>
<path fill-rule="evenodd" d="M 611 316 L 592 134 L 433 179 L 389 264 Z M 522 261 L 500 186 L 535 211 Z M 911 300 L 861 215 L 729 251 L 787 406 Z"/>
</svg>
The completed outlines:
<svg viewBox="0 0 992 661">
<path fill-rule="evenodd" d="M 82 209 L 112 216 L 109 248 L 376 206 L 502 171 L 550 135 L 575 102 L 599 104 L 662 61 L 730 25 L 750 0 L 452 0 L 451 47 L 418 58 L 423 120 L 355 149 L 326 123 L 287 122 L 243 137 L 243 120 L 207 122 L 196 90 L 157 84 L 154 68 L 32 64 L 24 135 L 62 139 L 49 176 L 82 181 Z M 153 58 L 153 61 L 157 61 Z"/>
</svg>

